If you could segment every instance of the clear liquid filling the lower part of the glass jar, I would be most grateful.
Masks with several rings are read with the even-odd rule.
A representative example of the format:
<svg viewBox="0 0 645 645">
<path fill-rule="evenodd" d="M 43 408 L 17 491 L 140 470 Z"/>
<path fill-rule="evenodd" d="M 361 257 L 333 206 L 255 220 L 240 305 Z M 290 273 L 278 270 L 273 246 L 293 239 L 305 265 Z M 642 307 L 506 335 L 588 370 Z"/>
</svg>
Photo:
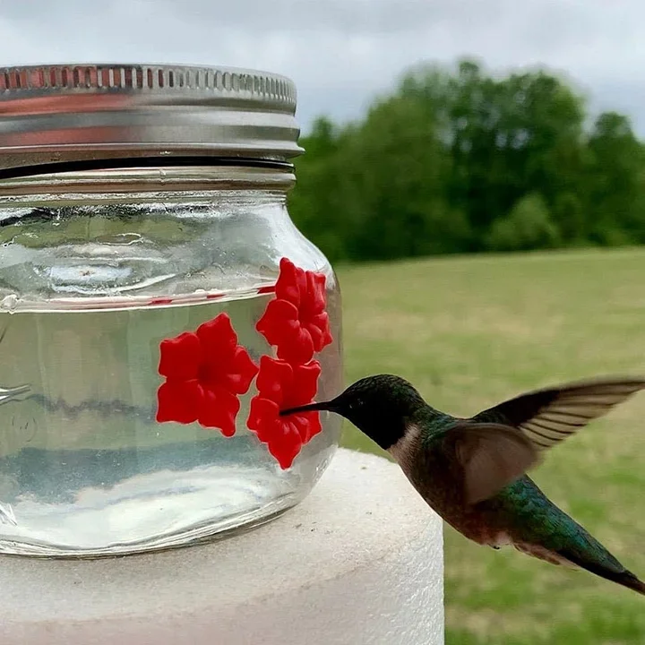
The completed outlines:
<svg viewBox="0 0 645 645">
<path fill-rule="evenodd" d="M 0 553 L 97 556 L 179 546 L 299 502 L 331 458 L 338 417 L 323 413 L 323 433 L 286 471 L 246 429 L 254 385 L 241 397 L 232 438 L 155 420 L 159 342 L 225 311 L 257 361 L 271 354 L 254 329 L 271 297 L 115 307 L 104 300 L 92 310 L 30 309 L 5 298 Z M 320 397 L 336 393 L 324 374 L 337 351 L 334 343 L 318 357 Z"/>
</svg>

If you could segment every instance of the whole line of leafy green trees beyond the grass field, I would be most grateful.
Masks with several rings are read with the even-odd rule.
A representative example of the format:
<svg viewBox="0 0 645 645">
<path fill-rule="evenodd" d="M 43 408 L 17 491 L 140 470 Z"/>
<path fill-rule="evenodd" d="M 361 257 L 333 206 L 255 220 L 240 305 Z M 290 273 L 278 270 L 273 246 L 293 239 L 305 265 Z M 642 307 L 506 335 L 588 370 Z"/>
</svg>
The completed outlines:
<svg viewBox="0 0 645 645">
<path fill-rule="evenodd" d="M 332 261 L 645 242 L 645 147 L 545 71 L 422 64 L 301 139 L 289 210 Z"/>
</svg>

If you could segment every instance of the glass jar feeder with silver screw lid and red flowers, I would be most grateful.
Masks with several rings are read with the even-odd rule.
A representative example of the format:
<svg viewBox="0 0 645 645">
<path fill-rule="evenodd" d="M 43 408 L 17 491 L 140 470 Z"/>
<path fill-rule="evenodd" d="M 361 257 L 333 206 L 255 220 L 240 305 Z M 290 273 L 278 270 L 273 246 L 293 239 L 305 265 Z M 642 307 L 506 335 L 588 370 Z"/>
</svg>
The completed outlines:
<svg viewBox="0 0 645 645">
<path fill-rule="evenodd" d="M 295 108 L 268 73 L 0 70 L 0 552 L 182 546 L 323 473 L 338 417 L 271 417 L 342 389 L 338 282 L 287 210 Z"/>
</svg>

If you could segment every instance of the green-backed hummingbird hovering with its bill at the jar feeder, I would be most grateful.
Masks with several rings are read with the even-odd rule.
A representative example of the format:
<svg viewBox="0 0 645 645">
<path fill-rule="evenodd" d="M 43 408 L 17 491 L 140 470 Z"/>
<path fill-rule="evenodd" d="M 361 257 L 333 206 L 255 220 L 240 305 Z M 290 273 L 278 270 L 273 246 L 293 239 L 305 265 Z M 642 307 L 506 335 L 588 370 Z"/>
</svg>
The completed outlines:
<svg viewBox="0 0 645 645">
<path fill-rule="evenodd" d="M 645 582 L 526 474 L 550 448 L 643 389 L 645 378 L 597 378 L 529 391 L 474 417 L 453 417 L 428 405 L 400 376 L 377 374 L 335 399 L 280 415 L 328 410 L 345 417 L 391 454 L 434 512 L 479 545 L 514 546 L 645 595 Z"/>
</svg>

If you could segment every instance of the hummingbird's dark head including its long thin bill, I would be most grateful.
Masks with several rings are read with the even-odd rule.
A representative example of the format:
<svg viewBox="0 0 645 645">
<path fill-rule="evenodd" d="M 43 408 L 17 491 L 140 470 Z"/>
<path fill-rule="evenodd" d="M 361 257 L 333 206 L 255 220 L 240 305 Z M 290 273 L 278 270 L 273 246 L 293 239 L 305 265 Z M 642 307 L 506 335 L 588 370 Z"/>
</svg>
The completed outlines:
<svg viewBox="0 0 645 645">
<path fill-rule="evenodd" d="M 399 376 L 377 374 L 353 383 L 335 399 L 284 409 L 280 416 L 314 410 L 335 412 L 388 450 L 406 433 L 409 419 L 425 406 L 411 383 Z"/>
</svg>

